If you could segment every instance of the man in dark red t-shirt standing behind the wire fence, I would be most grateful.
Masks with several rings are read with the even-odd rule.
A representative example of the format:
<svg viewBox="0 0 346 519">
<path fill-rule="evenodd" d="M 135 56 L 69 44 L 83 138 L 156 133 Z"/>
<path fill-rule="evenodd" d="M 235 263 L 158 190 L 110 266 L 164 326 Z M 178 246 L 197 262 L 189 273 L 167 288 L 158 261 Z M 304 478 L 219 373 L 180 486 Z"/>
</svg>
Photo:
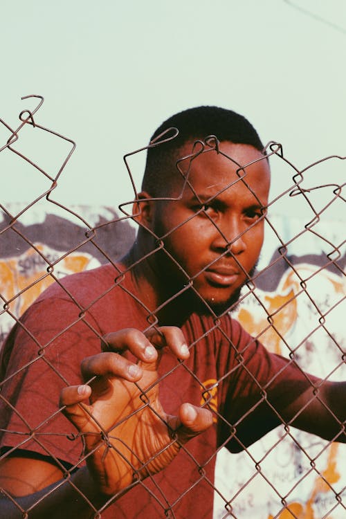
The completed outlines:
<svg viewBox="0 0 346 519">
<path fill-rule="evenodd" d="M 264 236 L 255 129 L 199 107 L 151 143 L 131 251 L 51 286 L 3 350 L 6 517 L 210 518 L 220 446 L 280 423 L 345 441 L 345 384 L 268 354 L 229 315 Z"/>
</svg>

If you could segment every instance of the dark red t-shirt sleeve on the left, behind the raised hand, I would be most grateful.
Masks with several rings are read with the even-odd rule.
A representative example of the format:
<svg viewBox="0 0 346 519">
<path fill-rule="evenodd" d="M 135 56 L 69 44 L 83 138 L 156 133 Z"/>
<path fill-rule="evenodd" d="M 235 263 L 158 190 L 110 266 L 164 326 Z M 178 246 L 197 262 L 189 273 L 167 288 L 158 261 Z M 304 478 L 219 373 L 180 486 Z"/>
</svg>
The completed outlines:
<svg viewBox="0 0 346 519">
<path fill-rule="evenodd" d="M 92 316 L 72 301 L 48 298 L 30 307 L 10 342 L 0 385 L 1 447 L 76 464 L 81 442 L 59 409 L 59 395 L 80 383 L 82 358 L 100 352 Z"/>
</svg>

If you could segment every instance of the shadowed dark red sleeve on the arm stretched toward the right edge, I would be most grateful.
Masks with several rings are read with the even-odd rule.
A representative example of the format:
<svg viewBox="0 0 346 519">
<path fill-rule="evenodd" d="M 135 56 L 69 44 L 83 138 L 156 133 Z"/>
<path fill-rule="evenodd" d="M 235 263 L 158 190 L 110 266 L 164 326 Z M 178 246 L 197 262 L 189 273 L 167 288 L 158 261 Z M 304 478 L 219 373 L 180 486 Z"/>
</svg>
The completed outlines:
<svg viewBox="0 0 346 519">
<path fill-rule="evenodd" d="M 319 379 L 268 352 L 235 320 L 220 331 L 219 444 L 238 452 L 283 423 L 284 410 Z"/>
</svg>

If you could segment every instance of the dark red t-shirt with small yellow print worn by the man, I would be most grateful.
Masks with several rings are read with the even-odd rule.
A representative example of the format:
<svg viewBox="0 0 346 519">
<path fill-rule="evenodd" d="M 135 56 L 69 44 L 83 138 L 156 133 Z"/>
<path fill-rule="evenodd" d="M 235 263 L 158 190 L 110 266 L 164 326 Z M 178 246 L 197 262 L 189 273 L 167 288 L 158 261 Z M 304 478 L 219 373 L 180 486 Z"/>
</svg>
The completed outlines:
<svg viewBox="0 0 346 519">
<path fill-rule="evenodd" d="M 80 439 L 74 439 L 73 426 L 58 412 L 60 390 L 81 382 L 80 362 L 100 352 L 104 334 L 149 326 L 131 273 L 118 276 L 119 271 L 107 265 L 64 278 L 64 289 L 52 285 L 12 330 L 1 358 L 3 448 L 80 466 Z M 161 403 L 166 412 L 176 414 L 185 401 L 203 403 L 204 394 L 215 426 L 192 439 L 165 471 L 102 512 L 104 519 L 163 518 L 165 511 L 180 519 L 211 518 L 217 449 L 242 448 L 237 439 L 230 441 L 233 426 L 240 431 L 243 415 L 253 409 L 255 435 L 262 437 L 277 424 L 264 397 L 284 408 L 293 393 L 298 396 L 309 385 L 309 377 L 291 361 L 269 354 L 229 316 L 215 321 L 193 314 L 182 330 L 192 345 L 190 358 L 179 363 L 168 352 L 163 354 Z M 206 388 L 211 388 L 209 393 Z"/>
</svg>

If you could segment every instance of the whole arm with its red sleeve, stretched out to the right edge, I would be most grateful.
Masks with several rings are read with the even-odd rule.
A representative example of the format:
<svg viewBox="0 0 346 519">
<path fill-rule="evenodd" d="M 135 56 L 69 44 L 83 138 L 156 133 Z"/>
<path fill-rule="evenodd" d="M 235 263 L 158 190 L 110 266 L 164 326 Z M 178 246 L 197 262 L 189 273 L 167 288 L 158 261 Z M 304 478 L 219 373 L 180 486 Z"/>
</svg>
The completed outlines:
<svg viewBox="0 0 346 519">
<path fill-rule="evenodd" d="M 221 441 L 231 452 L 250 446 L 280 424 L 346 442 L 346 383 L 318 379 L 260 343 L 246 350 L 224 404 Z"/>
</svg>

